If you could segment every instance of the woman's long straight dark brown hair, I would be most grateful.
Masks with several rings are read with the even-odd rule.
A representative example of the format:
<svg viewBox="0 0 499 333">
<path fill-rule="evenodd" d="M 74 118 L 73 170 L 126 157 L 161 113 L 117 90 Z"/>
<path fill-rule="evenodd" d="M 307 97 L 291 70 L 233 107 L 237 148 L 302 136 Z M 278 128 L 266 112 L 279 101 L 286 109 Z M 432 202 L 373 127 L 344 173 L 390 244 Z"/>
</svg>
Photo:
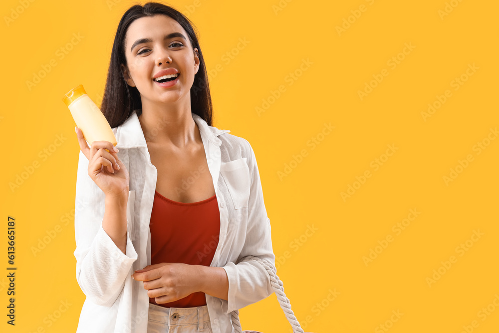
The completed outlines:
<svg viewBox="0 0 499 333">
<path fill-rule="evenodd" d="M 130 24 L 137 18 L 154 16 L 157 14 L 167 15 L 176 20 L 187 32 L 191 45 L 198 48 L 200 60 L 199 70 L 194 75 L 191 87 L 191 111 L 203 118 L 208 125 L 212 126 L 212 99 L 208 85 L 208 74 L 206 72 L 205 60 L 201 47 L 199 46 L 198 33 L 194 24 L 180 11 L 158 2 L 147 2 L 143 6 L 136 4 L 123 14 L 118 24 L 116 36 L 114 37 L 113 49 L 111 51 L 111 62 L 107 73 L 106 87 L 102 97 L 100 109 L 111 128 L 117 127 L 125 122 L 137 110 L 137 115 L 142 113 L 142 102 L 137 87 L 129 86 L 121 69 L 121 63 L 127 66 L 125 57 L 125 37 Z"/>
</svg>

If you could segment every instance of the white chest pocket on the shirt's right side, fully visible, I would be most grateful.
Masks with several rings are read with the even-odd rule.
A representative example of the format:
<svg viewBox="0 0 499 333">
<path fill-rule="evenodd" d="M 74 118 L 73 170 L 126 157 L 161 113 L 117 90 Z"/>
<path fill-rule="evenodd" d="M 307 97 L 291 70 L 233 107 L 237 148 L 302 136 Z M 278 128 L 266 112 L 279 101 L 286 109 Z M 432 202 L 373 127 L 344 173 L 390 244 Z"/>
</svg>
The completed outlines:
<svg viewBox="0 0 499 333">
<path fill-rule="evenodd" d="M 234 208 L 248 207 L 250 199 L 250 169 L 248 168 L 248 164 L 246 164 L 246 157 L 230 162 L 222 162 L 220 173 L 227 184 Z"/>
</svg>

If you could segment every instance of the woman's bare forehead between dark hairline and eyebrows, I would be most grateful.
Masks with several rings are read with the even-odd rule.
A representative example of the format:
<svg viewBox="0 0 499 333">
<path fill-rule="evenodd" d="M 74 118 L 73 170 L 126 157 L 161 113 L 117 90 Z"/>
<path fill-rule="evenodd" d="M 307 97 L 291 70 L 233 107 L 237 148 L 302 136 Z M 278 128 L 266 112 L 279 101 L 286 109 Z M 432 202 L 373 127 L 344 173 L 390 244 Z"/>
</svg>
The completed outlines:
<svg viewBox="0 0 499 333">
<path fill-rule="evenodd" d="M 132 43 L 139 38 L 163 39 L 171 32 L 181 32 L 186 38 L 187 32 L 176 20 L 166 15 L 140 17 L 129 26 L 125 37 L 125 49 L 129 50 Z"/>
</svg>

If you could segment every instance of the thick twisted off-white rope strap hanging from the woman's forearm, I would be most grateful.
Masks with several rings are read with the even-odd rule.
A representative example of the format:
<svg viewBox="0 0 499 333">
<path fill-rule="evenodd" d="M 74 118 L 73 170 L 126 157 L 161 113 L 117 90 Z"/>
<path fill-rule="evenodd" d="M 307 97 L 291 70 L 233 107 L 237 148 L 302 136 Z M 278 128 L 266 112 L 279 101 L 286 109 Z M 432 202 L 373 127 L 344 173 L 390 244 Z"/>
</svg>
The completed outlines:
<svg viewBox="0 0 499 333">
<path fill-rule="evenodd" d="M 277 296 L 277 300 L 279 301 L 279 305 L 282 311 L 284 311 L 284 314 L 286 315 L 287 321 L 289 322 L 289 324 L 291 324 L 291 327 L 293 328 L 293 333 L 304 333 L 300 327 L 300 323 L 298 323 L 298 320 L 296 319 L 293 311 L 291 310 L 291 304 L 289 303 L 289 299 L 284 294 L 284 287 L 282 286 L 282 281 L 280 281 L 277 274 L 275 274 L 276 272 L 274 271 L 273 267 L 270 266 L 268 262 L 266 262 L 265 260 L 253 256 L 245 257 L 243 260 L 241 260 L 241 262 L 243 261 L 257 261 L 265 268 L 268 275 L 270 276 L 270 285 L 272 286 L 272 289 L 274 290 L 274 293 Z M 232 324 L 236 329 L 236 332 L 243 333 L 243 329 L 241 328 L 241 322 L 239 321 L 239 310 L 233 311 L 231 313 L 231 316 L 232 316 Z"/>
</svg>

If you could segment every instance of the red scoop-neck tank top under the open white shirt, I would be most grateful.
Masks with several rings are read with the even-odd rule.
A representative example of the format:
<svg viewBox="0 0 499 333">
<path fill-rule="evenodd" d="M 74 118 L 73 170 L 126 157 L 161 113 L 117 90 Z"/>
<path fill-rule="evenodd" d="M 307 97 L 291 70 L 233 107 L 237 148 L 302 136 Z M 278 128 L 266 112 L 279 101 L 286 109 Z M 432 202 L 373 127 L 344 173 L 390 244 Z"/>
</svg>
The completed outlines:
<svg viewBox="0 0 499 333">
<path fill-rule="evenodd" d="M 151 221 L 151 265 L 184 263 L 210 266 L 220 235 L 220 211 L 217 197 L 198 202 L 177 202 L 157 191 Z M 193 293 L 170 303 L 153 303 L 165 308 L 193 308 L 206 305 L 203 292 Z"/>
</svg>

